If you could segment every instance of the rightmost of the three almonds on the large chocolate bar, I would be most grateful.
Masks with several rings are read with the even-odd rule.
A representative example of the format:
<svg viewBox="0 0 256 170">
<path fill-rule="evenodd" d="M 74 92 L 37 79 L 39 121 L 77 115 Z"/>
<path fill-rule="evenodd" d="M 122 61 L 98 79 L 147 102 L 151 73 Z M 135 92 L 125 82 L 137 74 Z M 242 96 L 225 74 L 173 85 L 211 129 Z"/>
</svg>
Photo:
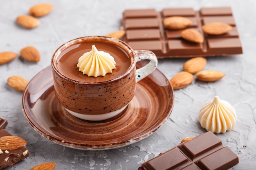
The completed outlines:
<svg viewBox="0 0 256 170">
<path fill-rule="evenodd" d="M 229 32 L 232 29 L 232 26 L 223 22 L 212 22 L 209 24 L 204 24 L 202 30 L 204 33 L 210 35 L 221 35 Z"/>
</svg>

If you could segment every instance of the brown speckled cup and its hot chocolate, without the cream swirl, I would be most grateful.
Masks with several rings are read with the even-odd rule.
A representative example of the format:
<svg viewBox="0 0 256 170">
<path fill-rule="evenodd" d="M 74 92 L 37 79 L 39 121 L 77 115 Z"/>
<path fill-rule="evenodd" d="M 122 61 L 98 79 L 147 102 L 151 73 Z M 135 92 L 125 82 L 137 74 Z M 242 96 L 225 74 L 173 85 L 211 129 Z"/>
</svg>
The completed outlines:
<svg viewBox="0 0 256 170">
<path fill-rule="evenodd" d="M 78 58 L 90 51 L 92 44 L 115 58 L 117 64 L 113 73 L 104 77 L 88 77 L 79 72 L 76 67 Z M 140 60 L 149 62 L 136 69 L 136 62 Z M 104 36 L 77 38 L 60 46 L 52 57 L 56 99 L 69 113 L 80 119 L 109 119 L 128 106 L 135 95 L 136 83 L 156 67 L 157 57 L 151 51 L 134 51 L 125 42 Z"/>
</svg>

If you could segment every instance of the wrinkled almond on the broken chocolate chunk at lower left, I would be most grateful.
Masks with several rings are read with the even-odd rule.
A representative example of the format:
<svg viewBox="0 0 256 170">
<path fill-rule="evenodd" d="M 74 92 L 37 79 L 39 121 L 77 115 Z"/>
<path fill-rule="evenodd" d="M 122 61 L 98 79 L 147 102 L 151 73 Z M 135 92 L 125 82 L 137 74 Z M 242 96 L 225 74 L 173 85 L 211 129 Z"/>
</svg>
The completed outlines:
<svg viewBox="0 0 256 170">
<path fill-rule="evenodd" d="M 0 149 L 15 150 L 27 144 L 27 141 L 18 136 L 3 136 L 0 137 Z"/>
</svg>

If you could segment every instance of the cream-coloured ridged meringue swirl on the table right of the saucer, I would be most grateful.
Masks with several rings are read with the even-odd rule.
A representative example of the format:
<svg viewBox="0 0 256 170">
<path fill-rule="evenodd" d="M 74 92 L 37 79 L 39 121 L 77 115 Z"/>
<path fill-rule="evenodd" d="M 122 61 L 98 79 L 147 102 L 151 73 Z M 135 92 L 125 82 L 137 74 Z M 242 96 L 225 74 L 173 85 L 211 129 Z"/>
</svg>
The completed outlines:
<svg viewBox="0 0 256 170">
<path fill-rule="evenodd" d="M 237 116 L 236 110 L 229 102 L 215 96 L 211 102 L 204 104 L 200 109 L 198 119 L 207 131 L 225 133 L 235 126 Z"/>
</svg>

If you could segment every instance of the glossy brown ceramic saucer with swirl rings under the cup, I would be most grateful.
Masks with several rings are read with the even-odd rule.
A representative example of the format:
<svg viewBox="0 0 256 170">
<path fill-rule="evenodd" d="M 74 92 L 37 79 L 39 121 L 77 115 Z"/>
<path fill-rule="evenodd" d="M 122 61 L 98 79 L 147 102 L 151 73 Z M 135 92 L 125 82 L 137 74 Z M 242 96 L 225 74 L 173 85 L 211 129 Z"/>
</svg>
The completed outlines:
<svg viewBox="0 0 256 170">
<path fill-rule="evenodd" d="M 144 63 L 137 64 L 141 65 Z M 48 66 L 25 89 L 23 113 L 36 132 L 57 144 L 83 150 L 118 148 L 151 135 L 165 123 L 173 109 L 173 88 L 159 70 L 138 82 L 136 88 L 125 113 L 112 120 L 86 122 L 58 103 L 52 68 Z"/>
</svg>

